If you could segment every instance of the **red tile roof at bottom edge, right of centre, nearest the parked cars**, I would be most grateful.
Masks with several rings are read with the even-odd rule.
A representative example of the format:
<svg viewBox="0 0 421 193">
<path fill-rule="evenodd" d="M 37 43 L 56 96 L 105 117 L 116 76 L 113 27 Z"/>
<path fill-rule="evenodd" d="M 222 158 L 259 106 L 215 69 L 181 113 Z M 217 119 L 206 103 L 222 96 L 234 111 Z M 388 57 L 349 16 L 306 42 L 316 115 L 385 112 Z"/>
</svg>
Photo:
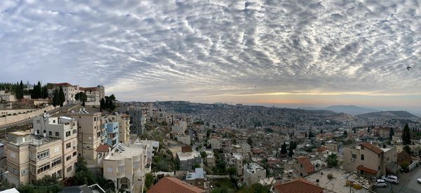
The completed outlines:
<svg viewBox="0 0 421 193">
<path fill-rule="evenodd" d="M 278 193 L 321 193 L 324 189 L 311 183 L 303 178 L 296 178 L 288 183 L 276 183 L 274 185 L 274 192 Z"/>
</svg>

